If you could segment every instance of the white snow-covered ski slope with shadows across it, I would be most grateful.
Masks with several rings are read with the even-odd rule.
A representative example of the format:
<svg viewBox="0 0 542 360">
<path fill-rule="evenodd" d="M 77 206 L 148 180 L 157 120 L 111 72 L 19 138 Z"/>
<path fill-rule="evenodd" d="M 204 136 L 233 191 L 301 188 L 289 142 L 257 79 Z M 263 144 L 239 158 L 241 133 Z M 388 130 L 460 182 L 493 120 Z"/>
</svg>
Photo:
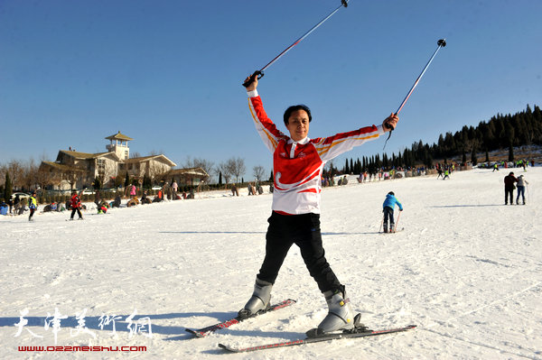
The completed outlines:
<svg viewBox="0 0 542 360">
<path fill-rule="evenodd" d="M 272 301 L 292 307 L 192 338 L 236 315 L 263 260 L 271 195 L 195 200 L 84 213 L 0 217 L 0 344 L 9 359 L 542 359 L 542 168 L 528 168 L 527 206 L 504 206 L 510 170 L 456 171 L 322 191 L 326 257 L 370 328 L 415 330 L 364 339 L 229 355 L 219 343 L 257 346 L 303 338 L 327 309 L 296 247 L 276 280 Z M 393 190 L 405 207 L 397 234 L 378 234 L 382 202 Z M 89 208 L 93 204 L 88 204 Z M 41 207 L 42 208 L 42 207 Z M 398 210 L 396 208 L 396 219 Z M 19 317 L 28 325 L 15 337 Z M 147 346 L 146 352 L 19 352 L 52 346 L 48 313 L 59 309 L 57 346 Z M 87 309 L 77 332 L 76 314 Z M 150 318 L 153 337 L 130 337 L 126 318 Z M 117 315 L 116 336 L 101 329 Z M 49 318 L 51 319 L 51 318 Z M 42 336 L 34 337 L 35 335 Z M 75 332 L 75 335 L 74 335 Z"/>
</svg>

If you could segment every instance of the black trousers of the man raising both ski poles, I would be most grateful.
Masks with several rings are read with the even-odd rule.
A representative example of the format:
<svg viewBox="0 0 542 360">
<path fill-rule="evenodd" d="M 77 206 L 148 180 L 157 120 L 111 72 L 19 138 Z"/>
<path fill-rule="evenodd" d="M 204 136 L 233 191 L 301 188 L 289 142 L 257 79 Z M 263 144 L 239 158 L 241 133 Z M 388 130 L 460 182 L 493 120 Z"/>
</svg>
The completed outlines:
<svg viewBox="0 0 542 360">
<path fill-rule="evenodd" d="M 257 274 L 258 279 L 275 283 L 288 250 L 295 244 L 320 291 L 343 291 L 341 282 L 325 259 L 319 214 L 281 215 L 274 211 L 267 222 L 266 258 Z"/>
</svg>

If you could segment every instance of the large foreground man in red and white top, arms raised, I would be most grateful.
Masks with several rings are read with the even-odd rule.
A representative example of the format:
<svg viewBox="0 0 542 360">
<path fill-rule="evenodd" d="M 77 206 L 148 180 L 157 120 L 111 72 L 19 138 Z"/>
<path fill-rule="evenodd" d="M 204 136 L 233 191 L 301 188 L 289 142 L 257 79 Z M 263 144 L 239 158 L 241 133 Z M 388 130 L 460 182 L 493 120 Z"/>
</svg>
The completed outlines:
<svg viewBox="0 0 542 360">
<path fill-rule="evenodd" d="M 267 220 L 266 257 L 257 274 L 254 292 L 239 311 L 239 316 L 246 318 L 269 306 L 271 289 L 278 272 L 288 250 L 295 244 L 299 246 L 304 263 L 329 308 L 315 332 L 329 333 L 354 328 L 354 316 L 345 287 L 332 271 L 322 247 L 320 179 L 326 162 L 395 128 L 398 117 L 392 114 L 382 125 L 310 139 L 311 110 L 304 105 L 290 106 L 283 116 L 288 136 L 280 132 L 266 115 L 262 99 L 257 94 L 257 78 L 248 85 L 247 91 L 250 114 L 257 133 L 273 153 L 275 191 L 273 212 Z"/>
</svg>

